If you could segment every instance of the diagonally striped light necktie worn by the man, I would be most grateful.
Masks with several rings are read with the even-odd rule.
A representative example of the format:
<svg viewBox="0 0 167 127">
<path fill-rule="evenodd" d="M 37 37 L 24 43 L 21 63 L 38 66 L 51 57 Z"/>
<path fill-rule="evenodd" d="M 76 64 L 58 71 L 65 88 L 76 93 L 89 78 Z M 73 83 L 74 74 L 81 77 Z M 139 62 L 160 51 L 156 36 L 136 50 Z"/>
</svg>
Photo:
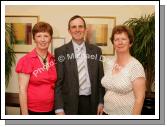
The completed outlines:
<svg viewBox="0 0 167 127">
<path fill-rule="evenodd" d="M 78 77 L 79 77 L 79 86 L 82 89 L 86 83 L 86 67 L 83 57 L 83 48 L 78 52 L 77 66 L 78 66 Z"/>
</svg>

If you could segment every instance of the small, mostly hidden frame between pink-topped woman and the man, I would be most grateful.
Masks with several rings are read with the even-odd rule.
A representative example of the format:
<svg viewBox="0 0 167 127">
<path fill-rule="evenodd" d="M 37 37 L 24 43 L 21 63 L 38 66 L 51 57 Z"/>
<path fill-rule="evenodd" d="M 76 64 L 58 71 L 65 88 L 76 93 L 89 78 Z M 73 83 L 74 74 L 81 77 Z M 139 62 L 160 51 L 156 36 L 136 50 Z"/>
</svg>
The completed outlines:
<svg viewBox="0 0 167 127">
<path fill-rule="evenodd" d="M 65 38 L 64 37 L 53 37 L 52 43 L 51 43 L 51 53 L 54 55 L 54 49 L 59 48 L 60 46 L 65 44 Z"/>
</svg>

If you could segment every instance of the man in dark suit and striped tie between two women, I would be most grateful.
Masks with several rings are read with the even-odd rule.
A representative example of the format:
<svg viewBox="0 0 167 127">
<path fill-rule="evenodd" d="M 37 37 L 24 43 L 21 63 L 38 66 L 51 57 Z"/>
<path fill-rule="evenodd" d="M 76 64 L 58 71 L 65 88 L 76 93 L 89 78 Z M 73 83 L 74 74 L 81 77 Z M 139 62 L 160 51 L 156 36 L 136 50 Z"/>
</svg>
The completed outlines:
<svg viewBox="0 0 167 127">
<path fill-rule="evenodd" d="M 101 49 L 84 41 L 86 23 L 73 16 L 68 23 L 72 40 L 55 49 L 58 80 L 55 88 L 55 113 L 96 115 L 103 113 L 104 75 Z"/>
</svg>

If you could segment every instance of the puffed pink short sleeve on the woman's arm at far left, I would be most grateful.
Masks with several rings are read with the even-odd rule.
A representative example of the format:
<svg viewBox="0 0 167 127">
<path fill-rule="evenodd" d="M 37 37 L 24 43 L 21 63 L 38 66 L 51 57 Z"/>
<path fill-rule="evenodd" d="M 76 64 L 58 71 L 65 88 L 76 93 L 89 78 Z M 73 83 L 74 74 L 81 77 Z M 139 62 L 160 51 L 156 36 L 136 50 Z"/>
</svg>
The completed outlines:
<svg viewBox="0 0 167 127">
<path fill-rule="evenodd" d="M 27 56 L 22 57 L 17 63 L 16 72 L 31 74 L 32 73 L 31 58 Z"/>
</svg>

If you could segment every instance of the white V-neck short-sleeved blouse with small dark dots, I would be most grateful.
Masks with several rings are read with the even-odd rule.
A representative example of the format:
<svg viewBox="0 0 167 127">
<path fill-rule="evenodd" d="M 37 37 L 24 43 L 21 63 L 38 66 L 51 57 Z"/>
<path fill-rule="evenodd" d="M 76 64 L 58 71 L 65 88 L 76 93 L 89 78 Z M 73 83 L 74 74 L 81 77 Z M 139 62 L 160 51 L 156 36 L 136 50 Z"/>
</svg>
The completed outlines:
<svg viewBox="0 0 167 127">
<path fill-rule="evenodd" d="M 104 77 L 101 80 L 106 89 L 104 112 L 113 115 L 131 115 L 135 102 L 132 82 L 138 77 L 145 78 L 142 64 L 131 57 L 129 63 L 117 74 L 112 74 L 116 58 L 107 61 Z"/>
</svg>

